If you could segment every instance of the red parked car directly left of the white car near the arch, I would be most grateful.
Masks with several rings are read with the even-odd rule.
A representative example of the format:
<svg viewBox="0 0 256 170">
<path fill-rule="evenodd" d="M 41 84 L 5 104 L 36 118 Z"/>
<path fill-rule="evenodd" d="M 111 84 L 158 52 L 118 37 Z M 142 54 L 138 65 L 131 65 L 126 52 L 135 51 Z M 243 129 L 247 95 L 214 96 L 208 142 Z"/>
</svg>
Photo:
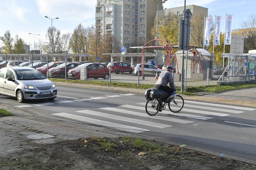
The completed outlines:
<svg viewBox="0 0 256 170">
<path fill-rule="evenodd" d="M 111 67 L 111 73 L 116 73 L 116 74 L 119 74 L 119 73 L 125 73 L 125 72 L 128 72 L 128 73 L 132 73 L 133 72 L 133 68 L 128 66 L 127 63 L 123 63 L 123 62 L 111 62 L 111 63 L 108 63 L 108 68 Z"/>
</svg>

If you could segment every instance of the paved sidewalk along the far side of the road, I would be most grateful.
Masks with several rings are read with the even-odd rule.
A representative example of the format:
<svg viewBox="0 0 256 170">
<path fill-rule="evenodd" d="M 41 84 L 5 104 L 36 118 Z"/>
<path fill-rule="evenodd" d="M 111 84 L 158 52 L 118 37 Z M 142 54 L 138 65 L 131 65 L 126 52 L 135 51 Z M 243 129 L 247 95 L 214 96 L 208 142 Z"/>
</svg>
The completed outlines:
<svg viewBox="0 0 256 170">
<path fill-rule="evenodd" d="M 114 90 L 127 93 L 136 93 L 144 95 L 144 89 L 137 88 L 121 88 L 121 87 L 108 87 L 99 85 L 88 85 L 88 84 L 78 84 L 78 83 L 64 83 L 64 82 L 54 82 L 56 85 L 72 86 L 72 87 L 83 87 L 83 88 L 93 88 L 101 90 Z M 231 90 L 228 92 L 218 92 L 218 93 L 201 93 L 198 96 L 186 96 L 182 95 L 184 99 L 187 100 L 198 100 L 204 102 L 214 102 L 220 104 L 230 104 L 230 105 L 240 105 L 244 107 L 255 107 L 256 108 L 256 88 L 246 88 L 241 90 Z"/>
</svg>

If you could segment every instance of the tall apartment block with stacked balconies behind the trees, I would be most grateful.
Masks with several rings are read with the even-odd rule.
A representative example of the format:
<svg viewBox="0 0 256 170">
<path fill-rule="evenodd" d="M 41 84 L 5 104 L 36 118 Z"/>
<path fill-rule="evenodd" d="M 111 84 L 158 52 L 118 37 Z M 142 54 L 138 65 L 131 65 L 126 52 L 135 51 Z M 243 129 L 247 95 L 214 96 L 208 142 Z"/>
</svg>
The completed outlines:
<svg viewBox="0 0 256 170">
<path fill-rule="evenodd" d="M 157 2 L 162 0 L 97 0 L 95 25 L 97 37 L 113 35 L 121 46 L 143 46 L 153 39 Z M 162 3 L 159 3 L 162 10 Z"/>
</svg>

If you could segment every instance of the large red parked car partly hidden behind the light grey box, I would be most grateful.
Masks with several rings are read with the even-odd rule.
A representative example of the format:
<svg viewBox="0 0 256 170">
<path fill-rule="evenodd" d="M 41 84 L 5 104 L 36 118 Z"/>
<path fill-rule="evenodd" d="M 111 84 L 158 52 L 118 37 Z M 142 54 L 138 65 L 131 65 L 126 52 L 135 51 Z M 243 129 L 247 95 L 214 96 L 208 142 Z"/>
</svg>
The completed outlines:
<svg viewBox="0 0 256 170">
<path fill-rule="evenodd" d="M 104 78 L 109 79 L 109 69 L 101 63 L 84 63 L 67 72 L 68 78 L 80 79 L 80 69 L 87 66 L 87 78 Z"/>
</svg>

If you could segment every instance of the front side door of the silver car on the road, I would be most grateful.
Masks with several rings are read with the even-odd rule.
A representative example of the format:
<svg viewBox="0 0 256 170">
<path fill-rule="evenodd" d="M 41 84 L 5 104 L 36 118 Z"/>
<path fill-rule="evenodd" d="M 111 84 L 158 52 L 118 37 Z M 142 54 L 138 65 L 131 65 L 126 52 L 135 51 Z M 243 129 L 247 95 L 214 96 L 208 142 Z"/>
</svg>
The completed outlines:
<svg viewBox="0 0 256 170">
<path fill-rule="evenodd" d="M 15 80 L 15 73 L 12 72 L 12 70 L 7 70 L 6 76 L 5 76 L 5 81 L 3 82 L 3 88 L 5 93 L 8 95 L 15 96 L 15 88 L 17 87 L 15 82 L 8 81 L 8 78 L 12 78 Z"/>
</svg>

